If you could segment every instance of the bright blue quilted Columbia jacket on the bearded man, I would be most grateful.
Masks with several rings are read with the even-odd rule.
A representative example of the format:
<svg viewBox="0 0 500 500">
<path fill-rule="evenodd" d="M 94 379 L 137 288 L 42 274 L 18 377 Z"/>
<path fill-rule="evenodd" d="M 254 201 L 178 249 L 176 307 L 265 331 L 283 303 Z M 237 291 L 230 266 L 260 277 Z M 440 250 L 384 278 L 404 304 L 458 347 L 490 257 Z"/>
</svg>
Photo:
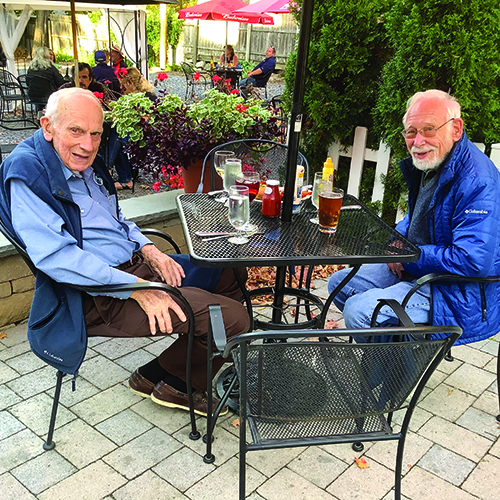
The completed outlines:
<svg viewBox="0 0 500 500">
<path fill-rule="evenodd" d="M 411 158 L 400 163 L 408 184 L 408 215 L 396 229 L 406 236 L 422 172 Z M 453 273 L 470 277 L 500 275 L 500 173 L 467 139 L 465 131 L 442 168 L 429 206 L 430 245 L 420 259 L 403 264 L 421 277 Z M 432 285 L 434 325 L 459 325 L 457 344 L 477 342 L 500 331 L 499 283 L 441 282 Z"/>
</svg>

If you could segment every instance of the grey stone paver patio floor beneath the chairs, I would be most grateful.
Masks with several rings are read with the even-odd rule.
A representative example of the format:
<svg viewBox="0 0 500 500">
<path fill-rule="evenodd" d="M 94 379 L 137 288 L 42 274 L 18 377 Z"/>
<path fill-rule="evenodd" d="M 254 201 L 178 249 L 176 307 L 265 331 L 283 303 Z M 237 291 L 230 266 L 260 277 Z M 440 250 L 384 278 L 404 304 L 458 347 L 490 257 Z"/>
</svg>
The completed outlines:
<svg viewBox="0 0 500 500">
<path fill-rule="evenodd" d="M 317 282 L 325 294 L 326 282 Z M 339 317 L 338 313 L 335 317 Z M 30 351 L 26 325 L 0 339 L 0 498 L 2 500 L 232 500 L 237 498 L 238 428 L 234 413 L 215 432 L 215 463 L 188 437 L 188 414 L 127 388 L 131 371 L 171 339 L 89 342 L 71 392 L 65 380 L 54 435 L 45 452 L 55 370 Z M 1 333 L 1 332 L 0 332 Z M 423 394 L 403 460 L 407 500 L 493 500 L 500 478 L 496 337 L 455 347 Z M 395 422 L 398 423 L 397 415 Z M 204 420 L 198 420 L 201 430 Z M 389 500 L 396 443 L 366 443 L 369 469 L 350 445 L 247 455 L 251 500 Z"/>
</svg>

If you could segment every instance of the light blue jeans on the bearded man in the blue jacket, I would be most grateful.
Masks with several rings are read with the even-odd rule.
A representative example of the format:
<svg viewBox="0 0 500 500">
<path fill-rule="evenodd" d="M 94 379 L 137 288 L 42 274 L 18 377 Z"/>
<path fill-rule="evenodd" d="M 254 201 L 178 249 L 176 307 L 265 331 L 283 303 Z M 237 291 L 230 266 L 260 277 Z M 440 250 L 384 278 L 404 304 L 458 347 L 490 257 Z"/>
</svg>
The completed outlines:
<svg viewBox="0 0 500 500">
<path fill-rule="evenodd" d="M 350 271 L 343 269 L 332 274 L 328 281 L 328 292 L 331 293 Z M 333 300 L 343 313 L 346 328 L 370 328 L 378 299 L 396 299 L 401 303 L 416 282 L 413 276 L 407 276 L 405 280 L 405 274 L 403 279 L 399 279 L 387 264 L 361 266 Z M 425 285 L 412 296 L 406 312 L 414 323 L 429 323 L 429 311 L 430 285 Z M 378 314 L 377 323 L 381 326 L 397 325 L 398 319 L 393 310 L 385 306 Z"/>
</svg>

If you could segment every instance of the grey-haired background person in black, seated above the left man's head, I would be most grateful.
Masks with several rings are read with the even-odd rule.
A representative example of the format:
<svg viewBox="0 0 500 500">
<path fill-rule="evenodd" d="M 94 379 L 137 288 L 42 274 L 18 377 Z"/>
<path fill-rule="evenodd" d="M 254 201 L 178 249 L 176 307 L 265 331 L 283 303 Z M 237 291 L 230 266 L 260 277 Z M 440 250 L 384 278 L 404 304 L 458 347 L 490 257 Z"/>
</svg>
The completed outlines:
<svg viewBox="0 0 500 500">
<path fill-rule="evenodd" d="M 64 85 L 63 76 L 51 60 L 51 52 L 48 47 L 38 47 L 26 74 L 28 96 L 37 111 L 42 111 L 50 94 Z"/>
</svg>

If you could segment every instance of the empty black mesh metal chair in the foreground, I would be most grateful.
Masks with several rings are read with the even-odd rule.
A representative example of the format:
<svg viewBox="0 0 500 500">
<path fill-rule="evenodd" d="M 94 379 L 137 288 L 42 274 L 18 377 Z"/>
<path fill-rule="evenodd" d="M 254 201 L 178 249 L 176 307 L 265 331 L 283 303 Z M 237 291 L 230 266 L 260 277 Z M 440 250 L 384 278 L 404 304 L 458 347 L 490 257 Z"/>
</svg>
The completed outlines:
<svg viewBox="0 0 500 500">
<path fill-rule="evenodd" d="M 245 498 L 249 451 L 340 443 L 354 443 L 360 451 L 363 441 L 388 440 L 398 442 L 395 498 L 400 500 L 410 419 L 425 384 L 460 336 L 459 327 L 269 331 L 225 343 L 220 308 L 211 306 L 210 314 L 218 350 L 224 357 L 232 355 L 236 368 L 228 392 L 239 385 L 240 500 Z M 436 333 L 446 335 L 431 340 L 429 335 Z M 370 343 L 370 337 L 387 334 L 409 340 Z M 351 336 L 357 343 L 346 342 Z M 210 408 L 211 402 L 209 413 Z M 404 418 L 397 431 L 392 414 L 399 410 Z M 214 425 L 211 419 L 205 462 L 214 460 Z"/>
</svg>

